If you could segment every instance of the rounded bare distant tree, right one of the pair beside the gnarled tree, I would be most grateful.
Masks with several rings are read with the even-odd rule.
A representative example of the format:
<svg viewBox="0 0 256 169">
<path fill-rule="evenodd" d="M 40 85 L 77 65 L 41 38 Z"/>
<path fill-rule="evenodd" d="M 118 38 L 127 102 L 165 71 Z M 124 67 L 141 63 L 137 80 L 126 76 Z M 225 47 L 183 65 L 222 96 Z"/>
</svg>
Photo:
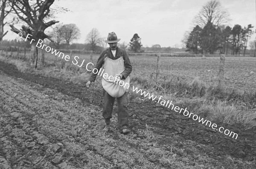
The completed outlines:
<svg viewBox="0 0 256 169">
<path fill-rule="evenodd" d="M 70 43 L 75 40 L 75 39 L 79 39 L 80 36 L 80 30 L 79 28 L 76 26 L 76 24 L 66 24 L 62 26 L 62 31 L 63 31 L 63 38 L 66 41 L 66 45 L 67 45 L 67 49 L 68 46 L 70 45 Z"/>
</svg>

